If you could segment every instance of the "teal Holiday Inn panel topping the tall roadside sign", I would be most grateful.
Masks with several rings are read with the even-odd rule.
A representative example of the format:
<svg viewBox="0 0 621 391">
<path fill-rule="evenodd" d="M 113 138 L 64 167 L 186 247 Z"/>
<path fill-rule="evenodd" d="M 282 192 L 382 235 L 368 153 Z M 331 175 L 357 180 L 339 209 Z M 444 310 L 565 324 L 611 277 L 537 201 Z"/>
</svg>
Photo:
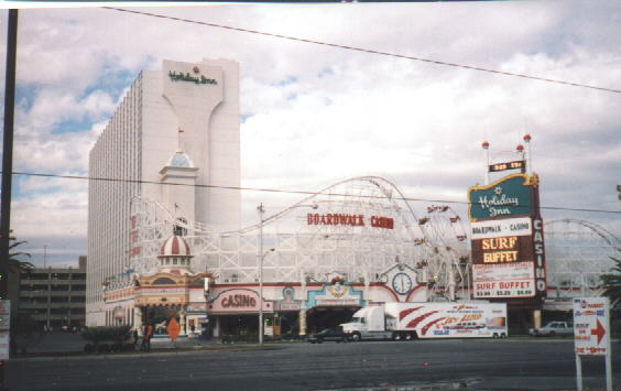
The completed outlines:
<svg viewBox="0 0 621 391">
<path fill-rule="evenodd" d="M 488 186 L 468 189 L 468 217 L 471 221 L 531 216 L 534 214 L 533 185 L 536 176 L 515 174 Z"/>
</svg>

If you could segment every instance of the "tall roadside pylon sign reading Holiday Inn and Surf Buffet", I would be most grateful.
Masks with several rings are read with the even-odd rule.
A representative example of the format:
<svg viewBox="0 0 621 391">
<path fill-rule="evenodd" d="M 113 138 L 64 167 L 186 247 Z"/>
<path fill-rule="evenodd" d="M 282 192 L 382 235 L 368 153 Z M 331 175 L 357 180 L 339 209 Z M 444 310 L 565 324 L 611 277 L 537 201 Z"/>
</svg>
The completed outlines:
<svg viewBox="0 0 621 391">
<path fill-rule="evenodd" d="M 475 298 L 544 297 L 543 221 L 536 174 L 468 192 Z"/>
</svg>

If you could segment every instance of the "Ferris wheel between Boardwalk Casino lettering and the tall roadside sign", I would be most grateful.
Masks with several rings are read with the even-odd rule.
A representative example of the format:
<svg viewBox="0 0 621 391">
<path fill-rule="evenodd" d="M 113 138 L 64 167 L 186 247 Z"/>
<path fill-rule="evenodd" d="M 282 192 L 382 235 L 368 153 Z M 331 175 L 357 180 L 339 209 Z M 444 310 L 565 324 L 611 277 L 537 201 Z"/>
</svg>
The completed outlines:
<svg viewBox="0 0 621 391">
<path fill-rule="evenodd" d="M 418 225 L 433 250 L 425 265 L 432 295 L 454 300 L 456 289 L 465 291 L 470 281 L 468 236 L 461 217 L 447 205 L 432 205 Z"/>
</svg>

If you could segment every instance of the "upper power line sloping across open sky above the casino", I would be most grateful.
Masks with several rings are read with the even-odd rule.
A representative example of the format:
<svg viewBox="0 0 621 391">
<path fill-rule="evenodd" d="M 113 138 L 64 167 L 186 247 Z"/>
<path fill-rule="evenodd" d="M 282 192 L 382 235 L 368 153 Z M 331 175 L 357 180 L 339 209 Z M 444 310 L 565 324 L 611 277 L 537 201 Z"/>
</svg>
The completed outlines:
<svg viewBox="0 0 621 391">
<path fill-rule="evenodd" d="M 447 63 L 447 62 L 437 61 L 437 59 L 423 58 L 423 57 L 415 57 L 415 56 L 407 56 L 407 55 L 403 55 L 403 54 L 395 54 L 395 53 L 389 53 L 389 52 L 381 52 L 381 51 L 374 51 L 374 50 L 363 48 L 363 47 L 357 47 L 357 46 L 340 45 L 340 44 L 336 44 L 336 43 L 322 42 L 322 41 L 315 41 L 315 40 L 306 40 L 306 39 L 299 39 L 299 37 L 295 37 L 295 36 L 281 35 L 281 34 L 274 34 L 274 33 L 266 33 L 266 32 L 263 32 L 263 31 L 249 30 L 249 29 L 242 29 L 242 28 L 233 28 L 233 26 L 230 26 L 230 25 L 216 24 L 216 23 L 209 23 L 209 22 L 201 22 L 201 21 L 192 20 L 192 19 L 176 18 L 176 17 L 163 15 L 163 14 L 151 13 L 151 12 L 144 12 L 144 11 L 127 10 L 127 9 L 115 8 L 115 7 L 102 7 L 102 8 L 108 9 L 108 10 L 112 10 L 112 11 L 129 12 L 129 13 L 135 13 L 135 14 L 144 15 L 144 17 L 168 19 L 168 20 L 173 20 L 173 21 L 177 21 L 177 22 L 200 24 L 200 25 L 207 25 L 207 26 L 210 26 L 210 28 L 233 30 L 233 31 L 239 31 L 239 32 L 243 32 L 243 33 L 259 34 L 259 35 L 272 36 L 272 37 L 277 37 L 277 39 L 283 39 L 283 40 L 290 40 L 290 41 L 296 41 L 296 42 L 304 42 L 304 43 L 312 43 L 312 44 L 316 44 L 316 45 L 324 45 L 324 46 L 330 46 L 330 47 L 338 47 L 338 48 L 345 48 L 345 50 L 349 50 L 349 51 L 357 51 L 357 52 L 363 52 L 363 53 L 370 53 L 370 54 L 379 54 L 379 55 L 384 55 L 384 56 L 390 56 L 390 57 L 405 58 L 405 59 L 418 61 L 418 62 L 431 63 L 431 64 L 436 64 L 436 65 L 451 66 L 451 67 L 456 67 L 456 68 L 464 68 L 464 69 L 470 69 L 470 70 L 487 72 L 487 73 L 497 74 L 497 75 L 503 75 L 503 76 L 522 77 L 522 78 L 527 78 L 527 79 L 533 79 L 533 80 L 540 80 L 540 82 L 546 82 L 546 83 L 555 83 L 555 84 L 566 85 L 566 86 L 581 87 L 581 88 L 590 88 L 590 89 L 597 89 L 597 90 L 607 91 L 607 93 L 621 94 L 621 90 L 620 90 L 620 89 L 613 89 L 613 88 L 607 88 L 607 87 L 598 87 L 598 86 L 592 86 L 592 85 L 587 85 L 587 84 L 581 84 L 581 83 L 564 82 L 564 80 L 544 78 L 544 77 L 532 76 L 532 75 L 526 75 L 526 74 L 515 74 L 515 73 L 511 73 L 511 72 L 498 70 L 498 69 L 490 69 L 490 68 L 482 68 L 482 67 L 471 66 L 471 65 L 462 65 L 462 64 L 457 64 L 457 63 Z"/>
</svg>

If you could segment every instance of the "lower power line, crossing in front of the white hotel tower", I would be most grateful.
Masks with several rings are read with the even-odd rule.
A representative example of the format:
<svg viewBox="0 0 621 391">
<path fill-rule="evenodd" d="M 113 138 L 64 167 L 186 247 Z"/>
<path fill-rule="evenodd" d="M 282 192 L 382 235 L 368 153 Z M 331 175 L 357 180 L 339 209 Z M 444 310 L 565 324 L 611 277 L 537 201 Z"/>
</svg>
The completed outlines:
<svg viewBox="0 0 621 391">
<path fill-rule="evenodd" d="M 264 192 L 264 193 L 299 194 L 299 195 L 324 195 L 324 196 L 333 196 L 333 197 L 349 197 L 349 196 L 351 196 L 350 194 L 345 194 L 345 193 L 320 193 L 320 192 L 307 192 L 307 191 L 294 191 L 294 189 L 243 187 L 243 186 L 219 186 L 219 185 L 200 185 L 200 184 L 188 185 L 186 183 L 175 183 L 175 182 L 162 183 L 162 182 L 157 182 L 157 181 L 123 180 L 123 178 L 111 178 L 111 177 L 91 177 L 91 176 L 85 176 L 85 175 L 61 175 L 61 174 L 45 174 L 45 173 L 28 173 L 28 172 L 19 172 L 19 171 L 13 171 L 13 175 L 39 176 L 39 177 L 57 177 L 57 178 L 64 178 L 64 180 L 84 180 L 84 181 L 98 181 L 98 182 L 120 182 L 120 183 L 134 183 L 134 184 L 149 184 L 149 185 L 188 186 L 188 187 L 218 188 L 218 189 L 246 191 L 246 192 Z M 397 200 L 405 200 L 405 202 L 444 203 L 444 204 L 458 204 L 458 205 L 479 205 L 479 203 L 467 203 L 467 202 L 462 202 L 462 200 L 451 200 L 451 199 L 388 197 L 388 196 L 380 196 L 380 195 L 357 195 L 357 196 L 362 197 L 362 198 L 370 198 L 370 199 L 397 199 Z M 568 207 L 562 207 L 562 206 L 540 206 L 540 209 L 621 214 L 621 210 L 582 209 L 582 208 L 568 208 Z"/>
</svg>

